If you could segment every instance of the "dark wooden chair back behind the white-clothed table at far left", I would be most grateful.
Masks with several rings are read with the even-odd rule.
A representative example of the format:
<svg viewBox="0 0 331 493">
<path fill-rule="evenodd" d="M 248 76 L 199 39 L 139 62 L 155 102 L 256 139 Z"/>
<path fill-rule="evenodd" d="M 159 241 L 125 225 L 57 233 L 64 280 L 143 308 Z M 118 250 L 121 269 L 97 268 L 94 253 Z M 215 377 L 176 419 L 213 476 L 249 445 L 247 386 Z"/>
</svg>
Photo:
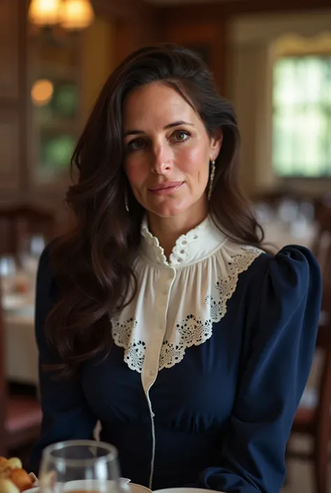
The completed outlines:
<svg viewBox="0 0 331 493">
<path fill-rule="evenodd" d="M 31 204 L 0 207 L 0 253 L 18 258 L 24 234 L 42 234 L 50 241 L 56 234 L 54 210 Z"/>
</svg>

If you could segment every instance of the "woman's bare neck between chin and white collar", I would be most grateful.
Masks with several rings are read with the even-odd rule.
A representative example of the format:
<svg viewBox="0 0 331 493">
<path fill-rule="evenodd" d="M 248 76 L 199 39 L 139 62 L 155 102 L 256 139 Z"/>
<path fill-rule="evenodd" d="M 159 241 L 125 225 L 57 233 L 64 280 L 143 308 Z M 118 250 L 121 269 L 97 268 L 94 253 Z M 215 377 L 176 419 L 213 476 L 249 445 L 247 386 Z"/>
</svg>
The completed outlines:
<svg viewBox="0 0 331 493">
<path fill-rule="evenodd" d="M 195 208 L 193 208 L 195 209 Z M 172 249 L 179 236 L 186 234 L 205 220 L 208 214 L 207 205 L 200 210 L 187 210 L 185 213 L 171 217 L 160 217 L 148 214 L 149 231 L 158 238 L 164 255 L 169 259 Z"/>
</svg>

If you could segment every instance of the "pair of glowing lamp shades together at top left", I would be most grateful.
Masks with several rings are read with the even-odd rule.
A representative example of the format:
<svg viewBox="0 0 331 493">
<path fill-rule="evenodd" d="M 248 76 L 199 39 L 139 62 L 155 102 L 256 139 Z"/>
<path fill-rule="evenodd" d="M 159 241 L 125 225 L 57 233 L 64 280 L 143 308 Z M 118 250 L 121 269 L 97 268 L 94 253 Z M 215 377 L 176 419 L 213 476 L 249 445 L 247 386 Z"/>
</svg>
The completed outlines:
<svg viewBox="0 0 331 493">
<path fill-rule="evenodd" d="M 31 0 L 29 20 L 40 27 L 60 24 L 68 30 L 89 27 L 94 20 L 90 0 Z"/>
</svg>

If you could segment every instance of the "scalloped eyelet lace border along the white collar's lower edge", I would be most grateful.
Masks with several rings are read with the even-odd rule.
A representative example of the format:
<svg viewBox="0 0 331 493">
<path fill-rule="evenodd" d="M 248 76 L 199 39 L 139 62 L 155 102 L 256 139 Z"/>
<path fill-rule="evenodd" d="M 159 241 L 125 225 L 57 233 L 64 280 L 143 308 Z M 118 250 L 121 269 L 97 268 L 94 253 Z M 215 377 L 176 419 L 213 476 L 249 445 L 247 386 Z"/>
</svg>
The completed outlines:
<svg viewBox="0 0 331 493">
<path fill-rule="evenodd" d="M 240 273 L 247 271 L 249 266 L 261 253 L 258 248 L 243 246 L 242 252 L 231 257 L 228 263 L 228 276 L 219 278 L 214 286 L 213 294 L 205 297 L 207 320 L 200 314 L 190 313 L 184 320 L 177 323 L 169 341 L 163 341 L 159 358 L 159 371 L 171 368 L 182 361 L 185 350 L 193 345 L 205 343 L 212 337 L 212 324 L 219 322 L 227 311 L 227 302 L 235 292 Z M 126 322 L 112 321 L 112 336 L 115 344 L 124 348 L 124 362 L 131 370 L 142 372 L 145 359 L 146 343 L 140 339 L 132 340 L 138 320 L 130 318 Z"/>
</svg>

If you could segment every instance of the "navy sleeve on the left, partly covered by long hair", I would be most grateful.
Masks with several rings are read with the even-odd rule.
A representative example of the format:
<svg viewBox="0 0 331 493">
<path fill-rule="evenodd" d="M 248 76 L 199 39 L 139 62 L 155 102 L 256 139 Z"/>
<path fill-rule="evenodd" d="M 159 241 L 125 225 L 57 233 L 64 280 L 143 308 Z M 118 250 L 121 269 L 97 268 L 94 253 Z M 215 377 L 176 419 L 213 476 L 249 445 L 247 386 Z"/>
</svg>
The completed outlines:
<svg viewBox="0 0 331 493">
<path fill-rule="evenodd" d="M 43 449 L 52 443 L 93 436 L 96 417 L 87 407 L 79 381 L 54 380 L 52 372 L 43 371 L 43 364 L 59 363 L 57 352 L 45 337 L 45 319 L 57 299 L 49 253 L 41 256 L 36 288 L 36 341 L 39 350 L 39 385 L 43 422 L 41 438 L 31 452 L 30 468 L 35 474 Z"/>
</svg>

